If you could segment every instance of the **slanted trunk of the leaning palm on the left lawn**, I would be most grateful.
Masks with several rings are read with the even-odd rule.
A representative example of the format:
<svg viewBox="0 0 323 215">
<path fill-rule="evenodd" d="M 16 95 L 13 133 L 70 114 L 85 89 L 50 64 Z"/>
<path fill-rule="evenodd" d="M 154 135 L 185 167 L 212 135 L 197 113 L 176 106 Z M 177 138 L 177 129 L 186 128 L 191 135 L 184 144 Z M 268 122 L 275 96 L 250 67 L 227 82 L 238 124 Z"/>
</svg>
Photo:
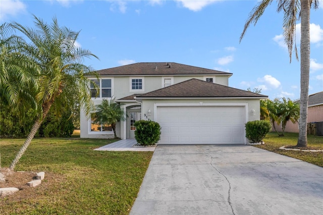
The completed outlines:
<svg viewBox="0 0 323 215">
<path fill-rule="evenodd" d="M 43 122 L 43 120 L 46 118 L 48 112 L 49 112 L 49 109 L 50 109 L 50 106 L 51 106 L 52 102 L 47 102 L 47 103 L 44 103 L 42 105 L 42 118 L 38 118 L 35 123 L 32 125 L 31 127 L 31 131 L 30 133 L 28 134 L 27 136 L 27 139 L 25 141 L 25 143 L 22 145 L 22 147 L 20 148 L 19 152 L 16 154 L 16 157 L 15 159 L 13 160 L 13 162 L 11 163 L 9 169 L 10 170 L 14 170 L 17 163 L 19 162 L 20 158 L 22 157 L 22 155 L 25 153 L 25 151 L 27 150 L 27 147 L 29 146 L 31 140 L 34 138 L 35 134 L 37 133 L 41 123 Z"/>
</svg>

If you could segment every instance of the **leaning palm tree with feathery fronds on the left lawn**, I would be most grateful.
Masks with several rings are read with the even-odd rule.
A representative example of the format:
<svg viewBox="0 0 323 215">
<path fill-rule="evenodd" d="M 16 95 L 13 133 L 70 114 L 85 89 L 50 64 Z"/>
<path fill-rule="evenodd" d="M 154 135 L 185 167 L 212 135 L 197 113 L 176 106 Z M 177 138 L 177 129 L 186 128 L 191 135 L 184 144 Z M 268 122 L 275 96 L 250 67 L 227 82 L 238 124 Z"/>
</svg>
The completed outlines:
<svg viewBox="0 0 323 215">
<path fill-rule="evenodd" d="M 60 27 L 56 17 L 48 25 L 34 16 L 35 29 L 24 27 L 14 22 L 13 28 L 23 33 L 30 43 L 23 43 L 20 55 L 25 55 L 40 68 L 39 74 L 34 76 L 35 85 L 30 94 L 37 104 L 37 118 L 31 128 L 27 139 L 16 157 L 10 169 L 13 170 L 19 159 L 26 151 L 28 145 L 39 129 L 41 123 L 48 114 L 52 105 L 59 105 L 62 100 L 68 100 L 73 92 L 69 89 L 77 89 L 80 105 L 87 116 L 90 116 L 93 103 L 89 94 L 90 80 L 84 73 L 91 73 L 92 68 L 82 64 L 84 58 L 97 58 L 89 50 L 76 46 L 79 32 L 67 27 Z M 95 75 L 93 73 L 93 75 Z"/>
</svg>

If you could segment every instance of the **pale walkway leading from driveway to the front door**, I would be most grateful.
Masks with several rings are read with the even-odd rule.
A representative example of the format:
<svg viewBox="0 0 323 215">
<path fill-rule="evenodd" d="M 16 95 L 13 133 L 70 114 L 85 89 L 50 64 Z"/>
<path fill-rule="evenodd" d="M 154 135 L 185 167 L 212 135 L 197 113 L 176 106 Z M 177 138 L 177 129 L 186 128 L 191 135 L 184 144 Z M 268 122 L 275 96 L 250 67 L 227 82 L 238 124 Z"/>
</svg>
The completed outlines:
<svg viewBox="0 0 323 215">
<path fill-rule="evenodd" d="M 108 145 L 104 145 L 102 147 L 96 148 L 94 150 L 98 151 L 154 151 L 155 146 L 134 146 L 137 144 L 135 139 L 125 139 L 119 140 L 114 143 L 110 143 Z"/>
</svg>

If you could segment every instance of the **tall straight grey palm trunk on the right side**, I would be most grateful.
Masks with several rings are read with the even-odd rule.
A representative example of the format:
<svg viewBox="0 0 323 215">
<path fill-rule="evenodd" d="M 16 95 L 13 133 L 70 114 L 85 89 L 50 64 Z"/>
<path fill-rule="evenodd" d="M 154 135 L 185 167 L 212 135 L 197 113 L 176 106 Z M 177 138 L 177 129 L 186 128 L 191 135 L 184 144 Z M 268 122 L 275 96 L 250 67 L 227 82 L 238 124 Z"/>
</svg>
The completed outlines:
<svg viewBox="0 0 323 215">
<path fill-rule="evenodd" d="M 310 34 L 309 34 L 309 0 L 301 0 L 301 94 L 300 120 L 297 146 L 307 146 L 307 108 L 309 84 Z"/>
</svg>

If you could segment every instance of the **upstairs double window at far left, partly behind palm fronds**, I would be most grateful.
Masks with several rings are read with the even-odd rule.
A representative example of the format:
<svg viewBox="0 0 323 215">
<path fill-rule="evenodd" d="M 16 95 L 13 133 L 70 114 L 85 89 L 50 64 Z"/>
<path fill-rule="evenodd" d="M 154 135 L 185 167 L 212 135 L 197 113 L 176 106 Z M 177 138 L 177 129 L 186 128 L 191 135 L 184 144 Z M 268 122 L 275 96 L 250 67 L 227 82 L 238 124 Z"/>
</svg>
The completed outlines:
<svg viewBox="0 0 323 215">
<path fill-rule="evenodd" d="M 112 80 L 111 79 L 91 79 L 99 88 L 98 94 L 93 83 L 90 84 L 92 98 L 111 98 L 112 95 Z"/>
</svg>

